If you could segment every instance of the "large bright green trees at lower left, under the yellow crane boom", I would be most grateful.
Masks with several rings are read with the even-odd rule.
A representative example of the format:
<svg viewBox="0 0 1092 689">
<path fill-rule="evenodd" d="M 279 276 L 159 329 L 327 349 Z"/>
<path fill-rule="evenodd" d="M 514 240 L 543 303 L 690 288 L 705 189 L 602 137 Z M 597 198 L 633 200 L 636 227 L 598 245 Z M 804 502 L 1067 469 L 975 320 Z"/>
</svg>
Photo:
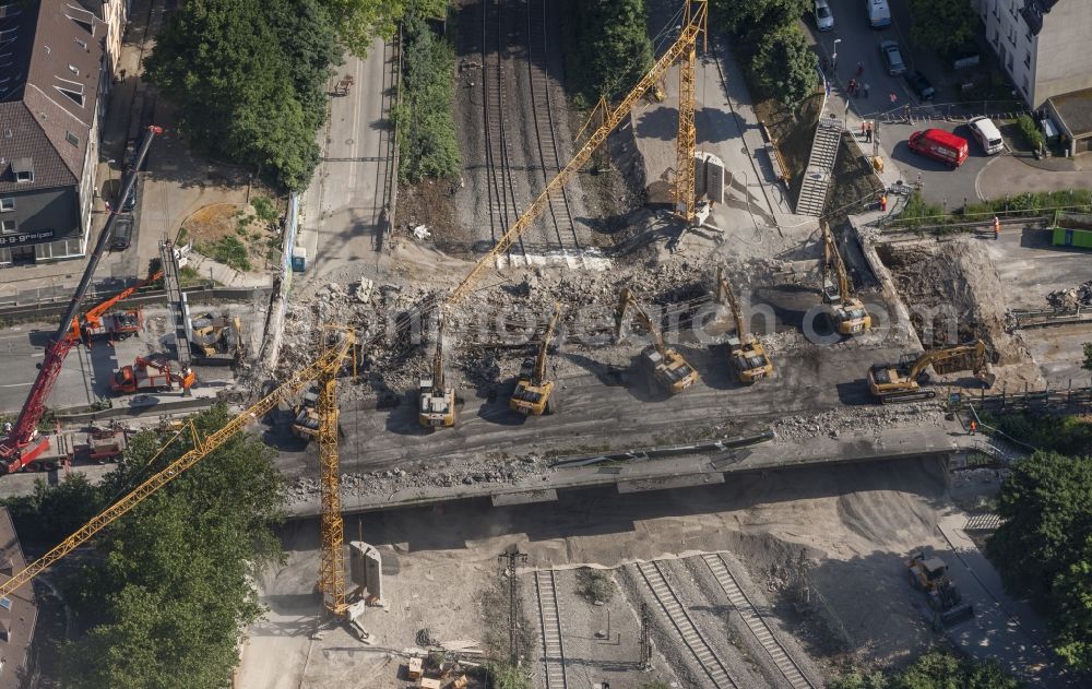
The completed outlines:
<svg viewBox="0 0 1092 689">
<path fill-rule="evenodd" d="M 207 436 L 223 405 L 199 415 Z M 121 492 L 177 459 L 156 433 L 138 436 L 104 480 Z M 147 689 L 227 686 L 242 631 L 261 614 L 253 577 L 283 554 L 271 530 L 282 518 L 283 478 L 273 450 L 237 436 L 104 532 L 105 556 L 66 582 L 91 630 L 60 651 L 67 685 Z"/>
</svg>

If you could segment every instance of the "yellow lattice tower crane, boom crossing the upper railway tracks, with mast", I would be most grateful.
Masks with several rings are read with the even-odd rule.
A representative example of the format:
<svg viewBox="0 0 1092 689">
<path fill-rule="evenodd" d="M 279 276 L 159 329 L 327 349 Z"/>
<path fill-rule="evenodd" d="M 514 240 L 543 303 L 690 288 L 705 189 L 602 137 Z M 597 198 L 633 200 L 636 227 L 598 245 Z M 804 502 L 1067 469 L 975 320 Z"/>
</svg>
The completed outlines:
<svg viewBox="0 0 1092 689">
<path fill-rule="evenodd" d="M 557 193 L 565 187 L 573 175 L 580 171 L 580 168 L 587 163 L 589 158 L 595 152 L 600 145 L 606 141 L 607 136 L 612 131 L 615 130 L 618 124 L 620 124 L 628 116 L 633 105 L 637 104 L 642 96 L 656 84 L 656 81 L 667 72 L 668 68 L 675 63 L 680 57 L 686 57 L 689 60 L 689 68 L 684 67 L 684 78 L 688 80 L 689 86 L 689 106 L 688 115 L 684 118 L 681 112 L 687 109 L 687 106 L 680 105 L 679 111 L 679 146 L 680 153 L 679 158 L 682 157 L 681 147 L 686 143 L 688 153 L 686 154 L 686 163 L 678 165 L 676 175 L 688 175 L 689 181 L 684 181 L 680 186 L 676 183 L 676 199 L 682 200 L 685 203 L 681 205 L 682 210 L 680 214 L 687 222 L 693 221 L 693 146 L 695 146 L 695 130 L 693 130 L 693 66 L 695 66 L 695 51 L 698 37 L 705 32 L 705 22 L 709 13 L 705 0 L 695 0 L 693 4 L 697 5 L 695 11 L 690 11 L 690 0 L 687 1 L 687 22 L 682 25 L 681 33 L 678 39 L 672 44 L 672 46 L 656 60 L 652 69 L 641 78 L 641 81 L 633 86 L 621 103 L 617 105 L 614 109 L 609 107 L 604 108 L 604 116 L 602 123 L 589 135 L 587 141 L 577 151 L 572 159 L 546 185 L 546 189 L 538 194 L 538 197 L 531 202 L 527 210 L 523 212 L 511 227 L 505 233 L 505 235 L 497 241 L 497 245 L 492 248 L 488 254 L 484 256 L 480 261 L 471 270 L 471 272 L 463 278 L 450 295 L 448 295 L 448 304 L 454 304 L 465 297 L 474 285 L 477 284 L 478 280 L 482 278 L 483 273 L 494 264 L 498 257 L 503 256 L 512 245 L 515 243 L 517 239 L 527 230 L 529 227 L 535 222 L 542 212 L 549 204 L 550 194 Z M 689 71 L 687 71 L 689 70 Z M 686 123 L 684 123 L 684 119 Z M 684 131 L 684 129 L 686 131 Z M 681 191 L 680 191 L 681 189 Z M 689 201 L 687 201 L 689 200 Z M 688 215 L 689 214 L 689 215 Z"/>
</svg>

